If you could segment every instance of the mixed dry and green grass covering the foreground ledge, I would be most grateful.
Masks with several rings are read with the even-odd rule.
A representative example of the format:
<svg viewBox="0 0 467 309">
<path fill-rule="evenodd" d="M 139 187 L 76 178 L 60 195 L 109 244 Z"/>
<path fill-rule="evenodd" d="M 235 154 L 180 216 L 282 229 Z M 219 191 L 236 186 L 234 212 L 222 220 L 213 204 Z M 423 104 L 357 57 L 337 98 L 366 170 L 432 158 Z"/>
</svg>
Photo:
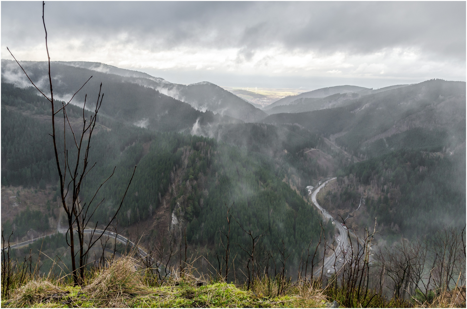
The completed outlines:
<svg viewBox="0 0 467 309">
<path fill-rule="evenodd" d="M 131 257 L 117 259 L 102 270 L 91 271 L 86 280 L 89 284 L 82 288 L 71 287 L 69 280 L 59 278 L 30 278 L 27 284 L 14 289 L 7 301 L 2 300 L 1 305 L 10 308 L 323 308 L 334 299 L 326 296 L 318 284 L 289 282 L 279 288 L 279 280 L 269 281 L 266 276 L 256 280 L 249 291 L 246 286 L 200 281 L 189 274 L 183 278 L 173 276 L 159 287 L 150 287 L 138 265 Z M 382 304 L 400 307 L 391 300 L 381 301 Z M 431 304 L 414 305 L 465 308 L 465 287 L 441 293 Z"/>
</svg>

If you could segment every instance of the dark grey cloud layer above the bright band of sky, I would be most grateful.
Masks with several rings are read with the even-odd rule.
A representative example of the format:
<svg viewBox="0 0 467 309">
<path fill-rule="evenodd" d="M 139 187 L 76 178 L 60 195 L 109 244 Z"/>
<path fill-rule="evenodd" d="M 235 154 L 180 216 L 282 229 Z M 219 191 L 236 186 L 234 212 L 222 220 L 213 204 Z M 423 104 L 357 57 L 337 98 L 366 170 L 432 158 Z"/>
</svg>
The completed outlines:
<svg viewBox="0 0 467 309">
<path fill-rule="evenodd" d="M 42 43 L 40 2 L 2 2 L 2 43 Z M 466 58 L 466 3 L 459 2 L 47 2 L 58 38 L 179 46 L 369 53 L 416 47 L 436 58 Z M 119 34 L 127 33 L 125 39 Z M 52 36 L 51 36 L 52 37 Z"/>
</svg>

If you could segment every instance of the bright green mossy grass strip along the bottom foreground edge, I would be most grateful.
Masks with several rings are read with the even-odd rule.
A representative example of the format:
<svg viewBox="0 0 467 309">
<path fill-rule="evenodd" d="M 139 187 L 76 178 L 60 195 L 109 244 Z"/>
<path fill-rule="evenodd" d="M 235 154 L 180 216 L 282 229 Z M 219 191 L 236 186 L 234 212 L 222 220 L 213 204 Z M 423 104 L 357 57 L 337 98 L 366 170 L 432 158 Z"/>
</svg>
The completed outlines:
<svg viewBox="0 0 467 309">
<path fill-rule="evenodd" d="M 31 282 L 35 282 L 31 284 Z M 280 297 L 258 297 L 234 284 L 217 282 L 196 286 L 182 281 L 177 285 L 148 287 L 144 295 L 120 295 L 111 299 L 95 299 L 82 294 L 81 287 L 58 287 L 49 281 L 30 281 L 13 300 L 2 300 L 1 307 L 7 308 L 298 308 L 325 307 L 325 300 L 313 301 L 299 295 Z M 59 293 L 57 289 L 61 290 Z M 58 294 L 58 295 L 57 295 Z M 52 296 L 55 295 L 55 296 Z M 19 296 L 19 297 L 18 297 Z"/>
</svg>

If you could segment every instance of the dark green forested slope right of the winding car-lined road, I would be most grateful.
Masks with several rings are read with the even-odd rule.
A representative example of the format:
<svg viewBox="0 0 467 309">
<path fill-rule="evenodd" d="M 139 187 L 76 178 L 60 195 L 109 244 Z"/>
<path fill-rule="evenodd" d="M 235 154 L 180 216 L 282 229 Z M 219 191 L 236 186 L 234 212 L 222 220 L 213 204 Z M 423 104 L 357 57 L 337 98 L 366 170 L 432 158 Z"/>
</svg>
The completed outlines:
<svg viewBox="0 0 467 309">
<path fill-rule="evenodd" d="M 384 237 L 431 237 L 445 225 L 464 227 L 465 173 L 465 144 L 453 154 L 392 151 L 340 170 L 329 194 L 333 206 L 325 206 L 346 218 L 363 193 L 364 207 L 350 216 L 349 226 L 371 226 L 376 218 Z"/>
</svg>

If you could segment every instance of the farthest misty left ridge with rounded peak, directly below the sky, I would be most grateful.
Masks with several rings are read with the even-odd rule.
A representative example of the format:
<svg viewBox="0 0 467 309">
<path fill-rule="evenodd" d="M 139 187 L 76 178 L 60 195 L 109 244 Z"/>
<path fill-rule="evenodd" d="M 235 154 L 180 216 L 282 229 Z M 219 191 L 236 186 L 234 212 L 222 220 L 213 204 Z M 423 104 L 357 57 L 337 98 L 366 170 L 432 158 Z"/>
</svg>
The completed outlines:
<svg viewBox="0 0 467 309">
<path fill-rule="evenodd" d="M 39 62 L 28 62 L 28 67 L 31 65 L 42 66 Z M 223 88 L 216 86 L 209 82 L 200 82 L 191 85 L 181 85 L 170 83 L 165 79 L 153 77 L 147 73 L 137 72 L 132 70 L 120 69 L 113 65 L 106 65 L 96 62 L 85 61 L 56 61 L 53 64 L 67 65 L 77 69 L 87 69 L 93 72 L 106 73 L 109 75 L 117 75 L 122 77 L 122 82 L 134 83 L 141 86 L 146 86 L 158 90 L 160 93 L 173 97 L 177 100 L 184 101 L 192 107 L 206 111 L 210 110 L 213 113 L 221 115 L 228 115 L 234 118 L 241 119 L 246 122 L 257 122 L 267 116 L 262 110 L 256 108 L 247 101 L 229 93 Z M 16 64 L 11 61 L 2 59 L 2 76 L 10 82 L 16 81 L 15 79 L 21 78 L 21 74 Z M 62 71 L 70 72 L 60 66 L 56 66 L 54 74 L 64 76 Z M 102 79 L 105 75 L 99 75 Z M 24 78 L 21 78 L 24 80 Z M 115 78 L 113 78 L 115 80 Z M 107 82 L 102 80 L 104 84 Z M 17 84 L 21 86 L 21 84 Z"/>
</svg>

